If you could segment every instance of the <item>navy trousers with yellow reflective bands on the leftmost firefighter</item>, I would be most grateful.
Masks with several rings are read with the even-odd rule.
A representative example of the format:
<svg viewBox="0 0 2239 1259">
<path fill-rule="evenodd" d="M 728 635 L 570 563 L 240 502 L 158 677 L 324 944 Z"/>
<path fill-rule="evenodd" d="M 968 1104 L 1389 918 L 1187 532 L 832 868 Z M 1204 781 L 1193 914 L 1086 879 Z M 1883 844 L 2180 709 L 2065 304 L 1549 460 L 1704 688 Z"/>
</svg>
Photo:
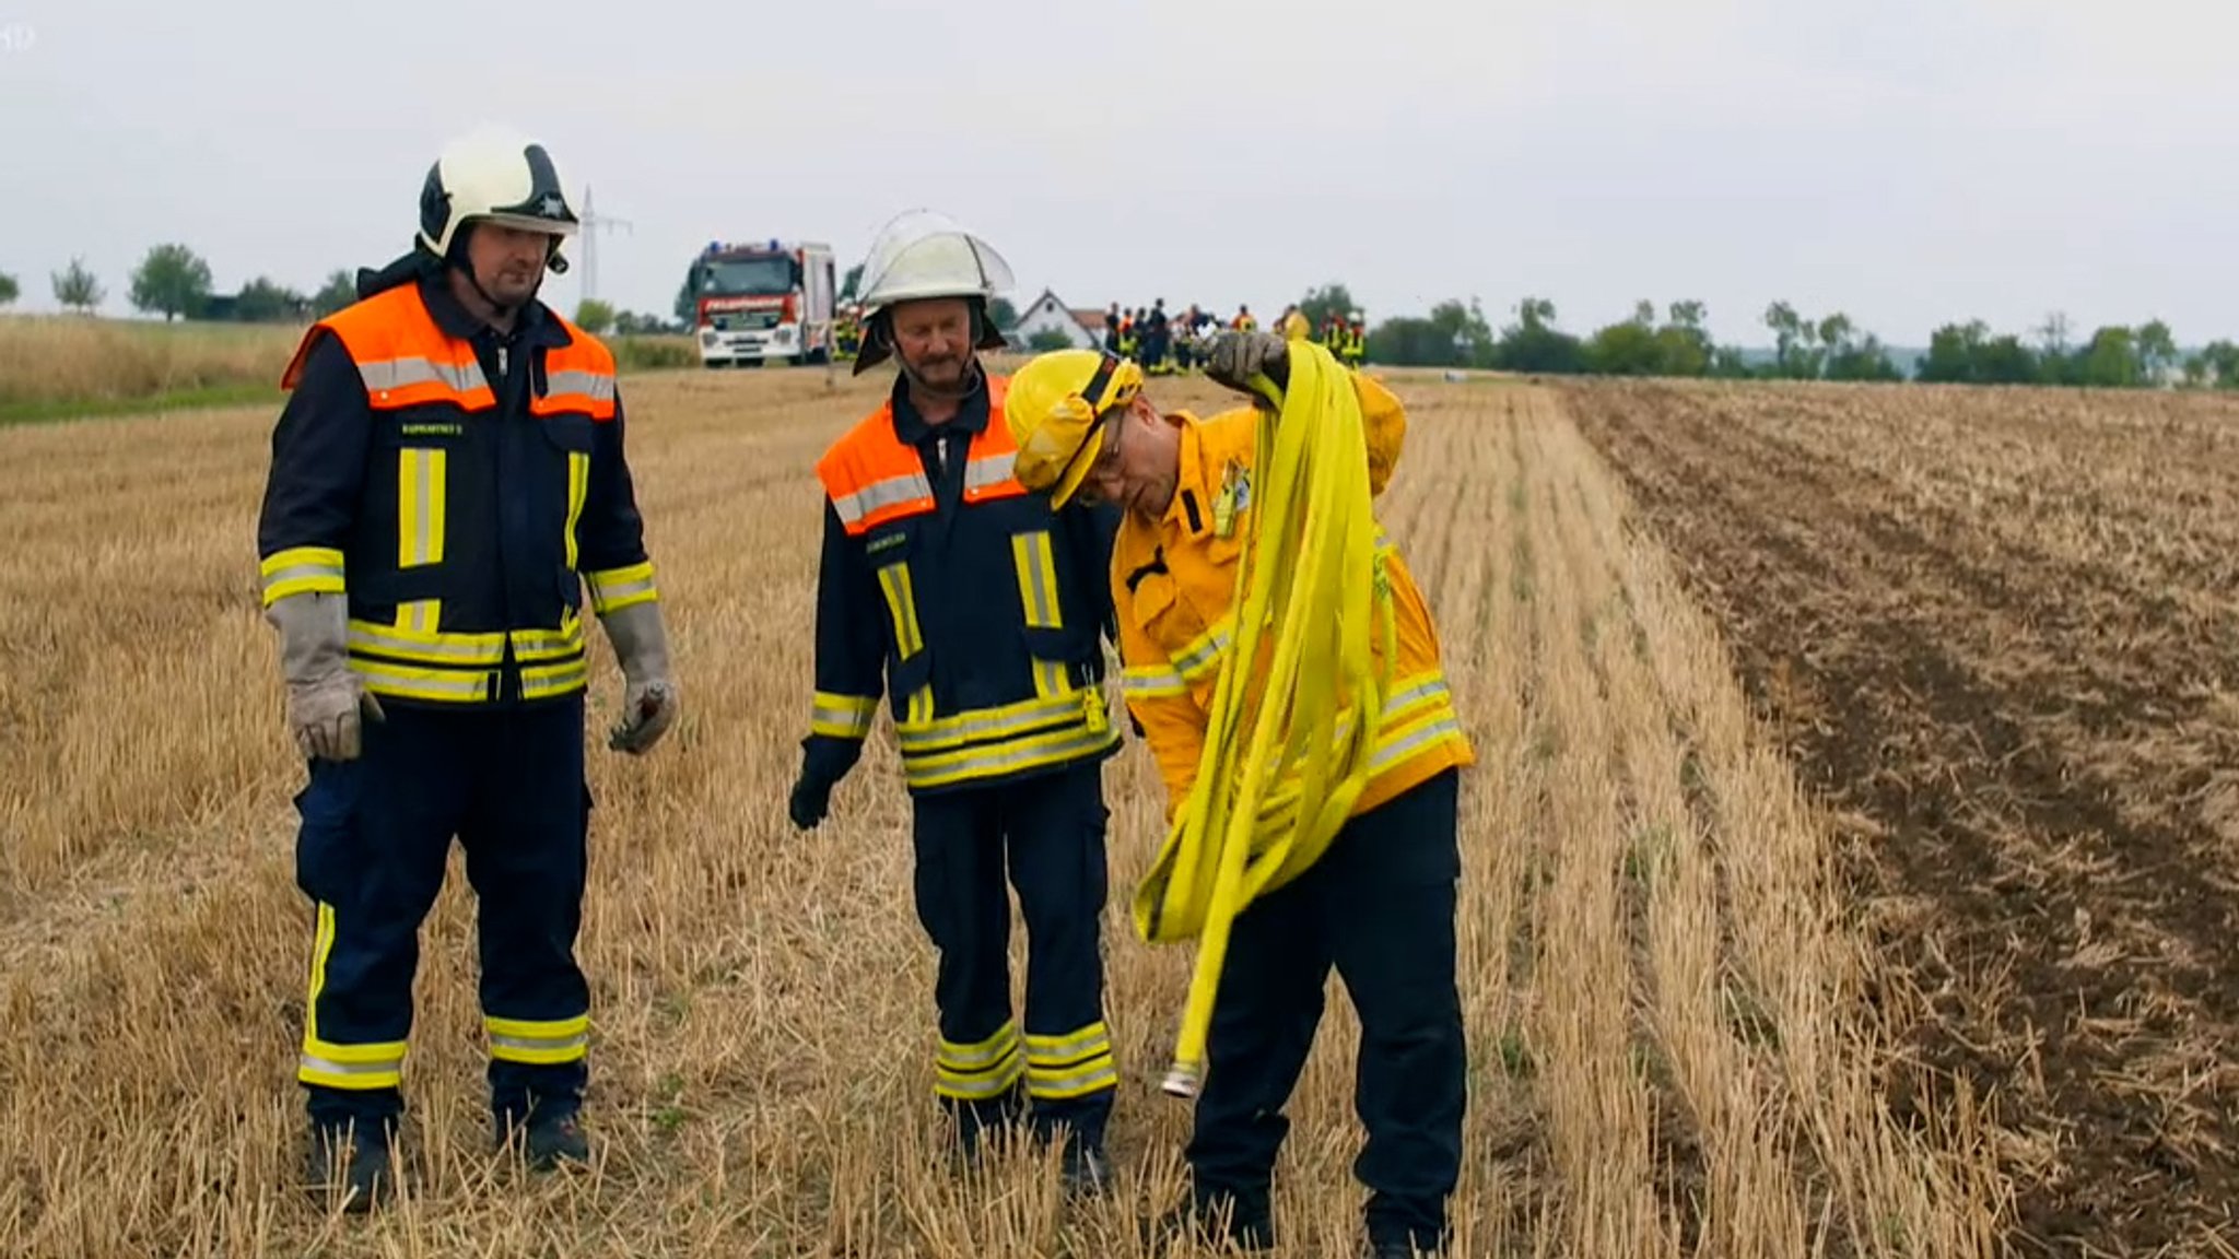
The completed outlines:
<svg viewBox="0 0 2239 1259">
<path fill-rule="evenodd" d="M 452 838 L 477 901 L 490 1109 L 575 1109 L 591 1001 L 575 966 L 591 811 L 582 697 L 385 712 L 363 724 L 358 759 L 313 759 L 296 795 L 296 880 L 318 923 L 296 1071 L 311 1120 L 403 1111 L 419 927 Z"/>
</svg>

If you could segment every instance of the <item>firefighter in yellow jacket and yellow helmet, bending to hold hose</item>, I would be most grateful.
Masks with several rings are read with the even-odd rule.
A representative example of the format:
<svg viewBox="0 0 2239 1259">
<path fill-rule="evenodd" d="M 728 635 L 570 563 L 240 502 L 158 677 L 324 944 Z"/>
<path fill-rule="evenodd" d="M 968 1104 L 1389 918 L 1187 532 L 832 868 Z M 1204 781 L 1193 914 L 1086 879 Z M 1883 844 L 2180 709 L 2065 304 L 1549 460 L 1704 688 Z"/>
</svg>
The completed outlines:
<svg viewBox="0 0 2239 1259">
<path fill-rule="evenodd" d="M 1303 349 L 1303 347 L 1301 347 Z M 1207 374 L 1278 388 L 1281 334 L 1214 338 Z M 1399 455 L 1406 412 L 1352 374 L 1368 432 L 1370 491 Z M 1012 379 L 1019 479 L 1124 504 L 1113 542 L 1124 694 L 1167 784 L 1169 818 L 1189 798 L 1214 686 L 1234 623 L 1238 556 L 1254 529 L 1256 417 L 1160 414 L 1142 374 L 1086 349 L 1043 354 Z M 1334 966 L 1361 1015 L 1359 1093 L 1368 1129 L 1357 1169 L 1370 1190 L 1375 1255 L 1444 1243 L 1460 1172 L 1462 1015 L 1455 995 L 1458 780 L 1473 750 L 1440 668 L 1437 630 L 1406 562 L 1381 547 L 1397 652 L 1370 780 L 1317 865 L 1261 894 L 1236 921 L 1189 1140 L 1193 1201 L 1182 1219 L 1227 1219 L 1247 1248 L 1272 1246 L 1270 1178 L 1287 1131 L 1283 1104 L 1305 1064 Z"/>
</svg>

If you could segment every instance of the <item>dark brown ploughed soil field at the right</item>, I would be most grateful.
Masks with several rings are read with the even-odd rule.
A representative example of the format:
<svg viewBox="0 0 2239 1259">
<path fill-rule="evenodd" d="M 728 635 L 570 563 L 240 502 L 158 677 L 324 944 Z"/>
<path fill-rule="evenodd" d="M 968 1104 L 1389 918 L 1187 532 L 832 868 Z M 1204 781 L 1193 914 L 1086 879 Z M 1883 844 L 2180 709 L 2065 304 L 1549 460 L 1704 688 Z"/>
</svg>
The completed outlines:
<svg viewBox="0 0 2239 1259">
<path fill-rule="evenodd" d="M 1843 820 L 1896 1111 L 1986 1098 L 2020 1255 L 2239 1255 L 2239 408 L 1563 401 Z"/>
</svg>

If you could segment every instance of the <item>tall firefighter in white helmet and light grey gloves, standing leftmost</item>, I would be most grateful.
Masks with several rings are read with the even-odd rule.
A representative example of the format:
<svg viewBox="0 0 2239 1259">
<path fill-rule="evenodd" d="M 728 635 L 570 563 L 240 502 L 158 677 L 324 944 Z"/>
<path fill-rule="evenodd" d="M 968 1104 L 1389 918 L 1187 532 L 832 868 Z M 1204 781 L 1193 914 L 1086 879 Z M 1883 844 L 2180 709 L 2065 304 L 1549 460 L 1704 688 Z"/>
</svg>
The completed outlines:
<svg viewBox="0 0 2239 1259">
<path fill-rule="evenodd" d="M 622 668 L 609 746 L 676 717 L 613 354 L 537 300 L 575 208 L 544 146 L 448 146 L 414 249 L 358 273 L 282 388 L 257 520 L 287 724 L 309 762 L 296 878 L 313 903 L 296 1078 L 311 1176 L 394 1190 L 419 927 L 452 838 L 479 901 L 497 1138 L 584 1160 L 589 986 L 584 587 Z"/>
</svg>

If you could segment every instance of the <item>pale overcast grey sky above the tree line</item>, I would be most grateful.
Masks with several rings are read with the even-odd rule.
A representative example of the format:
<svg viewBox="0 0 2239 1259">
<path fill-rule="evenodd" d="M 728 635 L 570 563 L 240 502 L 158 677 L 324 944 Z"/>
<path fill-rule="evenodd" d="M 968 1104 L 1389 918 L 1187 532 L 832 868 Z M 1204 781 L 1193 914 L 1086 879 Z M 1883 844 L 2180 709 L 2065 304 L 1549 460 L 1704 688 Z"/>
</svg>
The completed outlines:
<svg viewBox="0 0 2239 1259">
<path fill-rule="evenodd" d="M 0 271 L 51 309 L 83 255 L 125 314 L 177 240 L 309 291 L 506 121 L 634 224 L 600 296 L 661 314 L 712 237 L 844 269 L 934 206 L 1021 307 L 1343 280 L 1370 318 L 1699 298 L 1762 343 L 1787 298 L 1899 345 L 2051 309 L 2190 345 L 2239 338 L 2235 36 L 2228 0 L 0 0 Z"/>
</svg>

